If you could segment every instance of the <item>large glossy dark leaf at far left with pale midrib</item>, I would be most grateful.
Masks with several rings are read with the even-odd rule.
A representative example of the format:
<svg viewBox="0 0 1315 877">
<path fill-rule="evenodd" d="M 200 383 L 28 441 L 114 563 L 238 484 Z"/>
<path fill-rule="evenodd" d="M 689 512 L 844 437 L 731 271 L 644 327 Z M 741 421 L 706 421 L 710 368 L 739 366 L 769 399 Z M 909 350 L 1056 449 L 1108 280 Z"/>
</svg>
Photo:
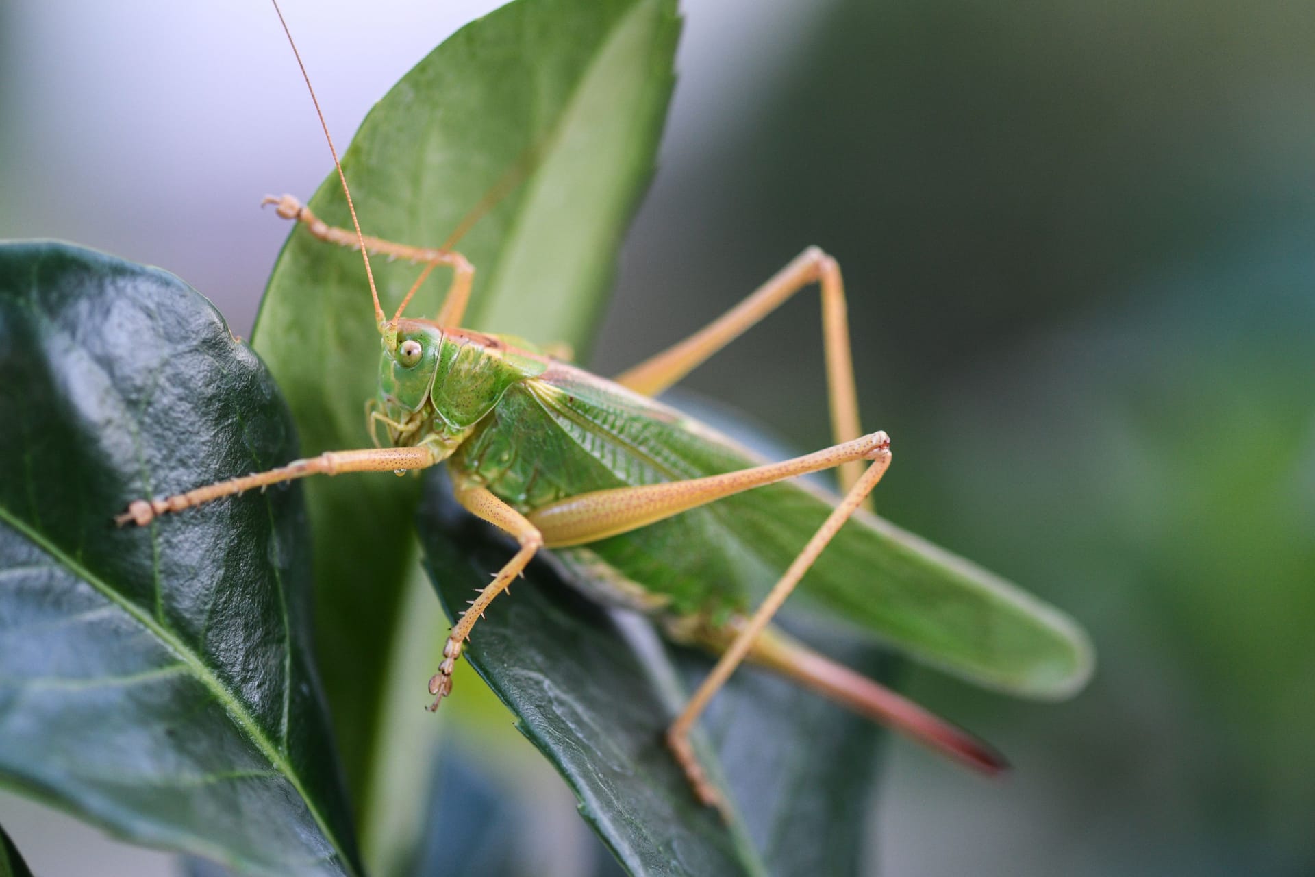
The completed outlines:
<svg viewBox="0 0 1315 877">
<path fill-rule="evenodd" d="M 0 423 L 0 780 L 242 870 L 358 870 L 300 493 L 113 525 L 293 456 L 255 355 L 163 271 L 7 245 Z"/>
</svg>

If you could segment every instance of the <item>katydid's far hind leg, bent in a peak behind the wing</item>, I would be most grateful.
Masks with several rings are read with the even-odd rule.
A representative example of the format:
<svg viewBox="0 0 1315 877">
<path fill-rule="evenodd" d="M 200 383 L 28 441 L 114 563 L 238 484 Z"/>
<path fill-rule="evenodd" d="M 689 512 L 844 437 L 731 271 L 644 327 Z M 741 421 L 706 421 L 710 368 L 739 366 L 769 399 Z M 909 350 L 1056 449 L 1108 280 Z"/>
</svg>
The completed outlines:
<svg viewBox="0 0 1315 877">
<path fill-rule="evenodd" d="M 827 394 L 831 434 L 836 443 L 863 434 L 859 426 L 859 394 L 853 383 L 849 321 L 844 304 L 840 266 L 818 247 L 809 247 L 742 302 L 685 341 L 634 366 L 614 380 L 623 387 L 656 396 L 739 338 L 747 329 L 776 310 L 800 289 L 817 283 L 822 289 L 822 342 L 826 350 Z M 840 488 L 848 490 L 863 473 L 863 463 L 840 467 Z M 864 505 L 868 505 L 865 501 Z"/>
</svg>

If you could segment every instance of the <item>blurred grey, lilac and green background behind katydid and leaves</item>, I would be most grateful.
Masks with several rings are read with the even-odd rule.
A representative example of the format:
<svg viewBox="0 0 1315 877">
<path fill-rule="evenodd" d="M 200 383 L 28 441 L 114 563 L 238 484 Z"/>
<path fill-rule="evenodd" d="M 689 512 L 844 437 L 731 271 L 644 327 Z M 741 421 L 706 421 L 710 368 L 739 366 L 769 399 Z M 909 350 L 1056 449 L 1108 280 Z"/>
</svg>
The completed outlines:
<svg viewBox="0 0 1315 877">
<path fill-rule="evenodd" d="M 285 11 L 346 142 L 494 5 Z M 1315 873 L 1315 7 L 685 13 L 594 366 L 827 247 L 865 421 L 894 437 L 880 509 L 1064 606 L 1099 652 L 1063 705 L 910 671 L 1016 770 L 890 746 L 873 873 Z M 163 266 L 246 334 L 287 233 L 256 204 L 327 170 L 266 4 L 0 3 L 0 237 Z M 801 296 L 688 385 L 819 446 L 819 335 Z M 13 797 L 0 823 L 38 873 L 174 868 Z"/>
</svg>

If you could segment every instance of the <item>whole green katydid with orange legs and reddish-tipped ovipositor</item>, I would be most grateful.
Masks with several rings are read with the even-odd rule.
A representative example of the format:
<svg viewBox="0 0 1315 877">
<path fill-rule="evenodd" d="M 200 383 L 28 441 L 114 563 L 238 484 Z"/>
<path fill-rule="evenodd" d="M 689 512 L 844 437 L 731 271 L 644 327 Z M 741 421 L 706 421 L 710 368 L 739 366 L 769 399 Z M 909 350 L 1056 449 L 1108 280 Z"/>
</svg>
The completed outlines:
<svg viewBox="0 0 1315 877">
<path fill-rule="evenodd" d="M 338 170 L 351 206 L 341 164 Z M 593 596 L 640 609 L 673 639 L 721 655 L 668 734 L 705 803 L 718 803 L 719 794 L 698 767 L 689 732 L 744 660 L 977 768 L 992 772 L 1003 764 L 985 744 L 771 627 L 776 610 L 805 577 L 806 586 L 823 594 L 838 593 L 831 582 L 871 579 L 871 602 L 843 609 L 897 648 L 972 681 L 1045 697 L 1072 692 L 1089 673 L 1086 640 L 1065 617 L 861 509 L 890 463 L 890 446 L 882 433 L 861 433 L 840 270 L 821 250 L 805 250 L 685 342 L 605 380 L 526 342 L 459 329 L 473 267 L 451 243 L 427 249 L 366 237 L 354 206 L 355 229 L 347 230 L 321 222 L 291 196 L 271 201 L 280 216 L 304 224 L 316 238 L 362 250 L 383 342 L 379 396 L 368 423 L 371 435 L 385 434 L 389 447 L 322 454 L 183 494 L 138 500 L 120 522 L 145 525 L 166 511 L 308 475 L 401 472 L 446 462 L 460 504 L 512 534 L 519 550 L 452 627 L 430 681 L 434 707 L 451 692 L 452 668 L 471 628 L 543 548 L 552 550 Z M 402 318 L 410 295 L 387 317 L 370 252 L 425 264 L 410 295 L 435 267 L 450 267 L 452 281 L 437 318 Z M 832 447 L 764 464 L 652 401 L 813 284 L 823 301 Z M 832 467 L 840 469 L 846 492 L 838 504 L 788 481 Z M 751 614 L 735 576 L 743 557 L 709 535 L 704 525 L 711 519 L 748 546 L 755 563 L 780 572 Z M 647 560 L 655 556 L 665 559 L 659 568 Z"/>
</svg>

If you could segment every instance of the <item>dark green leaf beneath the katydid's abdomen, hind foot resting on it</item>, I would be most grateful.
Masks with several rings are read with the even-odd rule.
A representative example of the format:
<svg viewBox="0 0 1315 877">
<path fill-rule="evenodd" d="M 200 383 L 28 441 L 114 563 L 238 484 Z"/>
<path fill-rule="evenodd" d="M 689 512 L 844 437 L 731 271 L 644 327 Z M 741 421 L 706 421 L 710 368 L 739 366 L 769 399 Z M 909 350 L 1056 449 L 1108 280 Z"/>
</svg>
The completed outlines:
<svg viewBox="0 0 1315 877">
<path fill-rule="evenodd" d="M 512 554 L 431 480 L 421 534 L 451 610 Z M 547 563 L 488 610 L 464 655 L 580 798 L 585 819 L 635 874 L 857 873 L 880 731 L 759 671 L 732 678 L 702 727 L 738 817 L 700 806 L 663 731 L 710 661 L 613 615 Z M 871 650 L 844 657 L 876 672 Z M 460 692 L 444 709 L 460 709 Z M 706 751 L 706 747 L 705 747 Z"/>
</svg>

